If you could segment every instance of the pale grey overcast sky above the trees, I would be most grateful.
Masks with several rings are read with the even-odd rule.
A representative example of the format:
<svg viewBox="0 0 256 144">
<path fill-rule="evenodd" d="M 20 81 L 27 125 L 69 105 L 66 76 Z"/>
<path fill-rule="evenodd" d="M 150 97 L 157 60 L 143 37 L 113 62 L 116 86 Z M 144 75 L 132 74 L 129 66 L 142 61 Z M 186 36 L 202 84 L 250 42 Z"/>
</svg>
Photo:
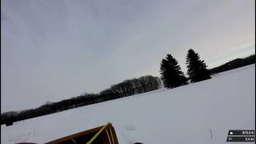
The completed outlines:
<svg viewBox="0 0 256 144">
<path fill-rule="evenodd" d="M 1 108 L 25 110 L 126 78 L 170 53 L 209 68 L 254 54 L 255 1 L 2 0 Z"/>
</svg>

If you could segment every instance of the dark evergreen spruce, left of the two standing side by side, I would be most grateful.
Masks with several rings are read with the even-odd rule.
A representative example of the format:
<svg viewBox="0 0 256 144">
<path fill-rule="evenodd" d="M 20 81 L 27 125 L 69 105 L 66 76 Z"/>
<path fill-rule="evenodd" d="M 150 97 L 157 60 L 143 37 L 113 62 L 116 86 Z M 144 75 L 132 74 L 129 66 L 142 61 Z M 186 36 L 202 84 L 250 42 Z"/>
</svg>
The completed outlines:
<svg viewBox="0 0 256 144">
<path fill-rule="evenodd" d="M 181 67 L 178 66 L 177 60 L 171 54 L 167 54 L 167 57 L 162 59 L 160 74 L 166 88 L 174 88 L 187 84 L 187 79 L 182 73 Z"/>
</svg>

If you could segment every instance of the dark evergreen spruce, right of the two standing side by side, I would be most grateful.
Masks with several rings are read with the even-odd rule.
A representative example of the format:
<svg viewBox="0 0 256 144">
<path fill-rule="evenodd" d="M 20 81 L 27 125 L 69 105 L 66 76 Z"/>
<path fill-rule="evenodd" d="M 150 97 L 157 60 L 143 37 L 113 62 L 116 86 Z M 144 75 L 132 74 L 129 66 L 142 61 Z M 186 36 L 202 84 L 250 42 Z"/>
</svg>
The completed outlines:
<svg viewBox="0 0 256 144">
<path fill-rule="evenodd" d="M 210 71 L 206 68 L 206 63 L 200 60 L 198 53 L 188 50 L 186 55 L 186 68 L 190 82 L 199 82 L 210 78 Z"/>
</svg>

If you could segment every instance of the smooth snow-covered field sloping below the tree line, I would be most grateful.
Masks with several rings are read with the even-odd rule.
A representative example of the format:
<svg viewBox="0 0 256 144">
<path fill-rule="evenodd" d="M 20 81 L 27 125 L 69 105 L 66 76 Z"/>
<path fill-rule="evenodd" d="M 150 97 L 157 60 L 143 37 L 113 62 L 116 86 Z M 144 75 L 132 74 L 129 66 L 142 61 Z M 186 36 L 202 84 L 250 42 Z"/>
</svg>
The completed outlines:
<svg viewBox="0 0 256 144">
<path fill-rule="evenodd" d="M 244 66 L 173 90 L 155 90 L 14 122 L 13 126 L 1 126 L 1 142 L 50 142 L 112 122 L 121 144 L 226 143 L 228 130 L 255 127 L 254 74 L 255 65 Z"/>
</svg>

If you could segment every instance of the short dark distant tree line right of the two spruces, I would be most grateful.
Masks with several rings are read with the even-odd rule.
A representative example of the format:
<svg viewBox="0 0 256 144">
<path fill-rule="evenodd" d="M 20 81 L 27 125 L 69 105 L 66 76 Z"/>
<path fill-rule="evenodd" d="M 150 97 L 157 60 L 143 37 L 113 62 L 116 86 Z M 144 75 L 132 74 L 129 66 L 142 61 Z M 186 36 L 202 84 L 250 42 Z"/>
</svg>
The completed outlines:
<svg viewBox="0 0 256 144">
<path fill-rule="evenodd" d="M 226 62 L 221 66 L 214 67 L 210 69 L 210 74 L 220 73 L 226 70 L 233 70 L 238 67 L 247 66 L 255 63 L 255 54 L 252 54 L 246 58 L 236 58 L 230 62 Z"/>
</svg>

